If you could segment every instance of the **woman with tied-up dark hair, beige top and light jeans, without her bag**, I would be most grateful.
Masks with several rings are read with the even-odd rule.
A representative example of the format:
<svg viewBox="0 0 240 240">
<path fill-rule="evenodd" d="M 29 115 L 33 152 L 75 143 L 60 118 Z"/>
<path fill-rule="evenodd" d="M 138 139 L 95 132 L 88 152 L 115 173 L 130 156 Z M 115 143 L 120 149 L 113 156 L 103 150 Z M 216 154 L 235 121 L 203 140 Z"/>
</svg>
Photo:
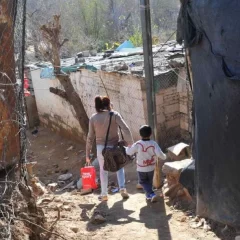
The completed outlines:
<svg viewBox="0 0 240 240">
<path fill-rule="evenodd" d="M 132 134 L 127 126 L 127 124 L 122 119 L 121 115 L 111 109 L 111 102 L 108 97 L 97 96 L 95 98 L 95 109 L 96 113 L 92 115 L 89 121 L 89 132 L 87 136 L 86 144 L 86 163 L 90 163 L 90 152 L 94 139 L 96 138 L 97 144 L 97 159 L 100 165 L 100 180 L 101 180 L 101 195 L 99 196 L 100 201 L 108 200 L 108 172 L 103 169 L 104 157 L 102 155 L 102 150 L 104 148 L 107 129 L 110 120 L 110 111 L 113 112 L 112 122 L 110 126 L 110 131 L 108 135 L 107 147 L 113 147 L 118 144 L 119 135 L 118 128 L 120 127 L 124 134 L 124 140 L 128 144 L 133 143 Z M 128 193 L 125 188 L 125 173 L 124 168 L 117 172 L 118 185 L 120 188 L 120 193 L 124 199 L 127 199 Z"/>
</svg>

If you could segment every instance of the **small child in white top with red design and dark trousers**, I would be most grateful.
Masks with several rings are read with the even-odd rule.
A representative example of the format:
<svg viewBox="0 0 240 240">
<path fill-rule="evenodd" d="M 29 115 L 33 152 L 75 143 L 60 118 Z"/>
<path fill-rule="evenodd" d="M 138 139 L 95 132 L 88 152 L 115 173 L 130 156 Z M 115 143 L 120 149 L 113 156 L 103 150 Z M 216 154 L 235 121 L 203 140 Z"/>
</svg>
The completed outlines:
<svg viewBox="0 0 240 240">
<path fill-rule="evenodd" d="M 166 159 L 166 155 L 162 152 L 158 144 L 151 140 L 152 129 L 148 125 L 144 125 L 139 130 L 141 140 L 135 142 L 132 146 L 126 148 L 128 155 L 137 154 L 137 172 L 139 183 L 142 185 L 147 200 L 156 201 L 156 194 L 153 192 L 153 174 L 156 157 L 162 160 Z"/>
</svg>

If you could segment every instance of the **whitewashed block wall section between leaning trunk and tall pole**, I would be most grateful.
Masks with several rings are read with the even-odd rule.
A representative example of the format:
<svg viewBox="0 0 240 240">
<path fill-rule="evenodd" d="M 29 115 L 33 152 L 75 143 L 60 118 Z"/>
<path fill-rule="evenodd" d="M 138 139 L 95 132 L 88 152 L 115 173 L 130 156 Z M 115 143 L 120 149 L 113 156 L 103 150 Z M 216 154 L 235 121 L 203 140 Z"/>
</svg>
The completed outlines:
<svg viewBox="0 0 240 240">
<path fill-rule="evenodd" d="M 118 72 L 91 72 L 81 70 L 71 73 L 71 80 L 90 117 L 95 113 L 96 95 L 109 96 L 114 110 L 118 111 L 131 128 L 134 139 L 139 138 L 139 127 L 146 123 L 143 105 L 143 78 Z"/>
</svg>

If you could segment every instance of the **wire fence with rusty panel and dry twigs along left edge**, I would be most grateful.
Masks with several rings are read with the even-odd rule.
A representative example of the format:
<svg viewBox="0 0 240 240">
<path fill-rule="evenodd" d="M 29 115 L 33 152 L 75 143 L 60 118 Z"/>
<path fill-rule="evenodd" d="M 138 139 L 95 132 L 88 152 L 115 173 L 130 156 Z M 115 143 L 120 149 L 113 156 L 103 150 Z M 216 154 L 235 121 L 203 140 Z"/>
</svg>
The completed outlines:
<svg viewBox="0 0 240 240">
<path fill-rule="evenodd" d="M 0 2 L 0 239 L 9 240 L 16 219 L 15 190 L 26 176 L 25 13 L 25 0 Z"/>
</svg>

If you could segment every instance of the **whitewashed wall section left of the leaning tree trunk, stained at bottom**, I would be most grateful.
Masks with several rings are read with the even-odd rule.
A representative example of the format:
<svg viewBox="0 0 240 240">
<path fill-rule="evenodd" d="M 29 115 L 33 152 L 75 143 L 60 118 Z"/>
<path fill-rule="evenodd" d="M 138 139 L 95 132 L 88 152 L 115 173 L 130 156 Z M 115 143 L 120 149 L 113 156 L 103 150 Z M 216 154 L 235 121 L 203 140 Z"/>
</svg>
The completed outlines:
<svg viewBox="0 0 240 240">
<path fill-rule="evenodd" d="M 62 89 L 59 81 L 41 79 L 40 70 L 32 71 L 32 80 L 40 122 L 70 139 L 76 141 L 84 139 L 72 106 L 61 97 L 49 92 L 50 87 Z"/>
</svg>

